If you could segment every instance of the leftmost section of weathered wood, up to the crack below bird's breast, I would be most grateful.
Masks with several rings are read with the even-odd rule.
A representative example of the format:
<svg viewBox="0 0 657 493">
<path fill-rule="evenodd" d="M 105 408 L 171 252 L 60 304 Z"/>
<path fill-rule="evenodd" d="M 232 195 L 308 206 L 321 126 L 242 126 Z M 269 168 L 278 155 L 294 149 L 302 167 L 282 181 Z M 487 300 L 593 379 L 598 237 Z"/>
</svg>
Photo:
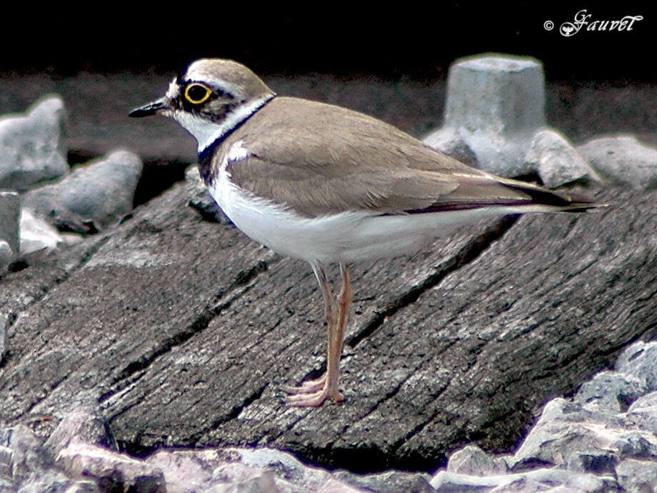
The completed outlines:
<svg viewBox="0 0 657 493">
<path fill-rule="evenodd" d="M 0 370 L 3 422 L 56 412 L 83 390 L 108 392 L 193 336 L 245 272 L 276 262 L 234 227 L 202 220 L 187 199 L 180 185 L 154 200 L 81 267 L 16 308 Z M 22 278 L 11 281 L 29 291 Z"/>
</svg>

